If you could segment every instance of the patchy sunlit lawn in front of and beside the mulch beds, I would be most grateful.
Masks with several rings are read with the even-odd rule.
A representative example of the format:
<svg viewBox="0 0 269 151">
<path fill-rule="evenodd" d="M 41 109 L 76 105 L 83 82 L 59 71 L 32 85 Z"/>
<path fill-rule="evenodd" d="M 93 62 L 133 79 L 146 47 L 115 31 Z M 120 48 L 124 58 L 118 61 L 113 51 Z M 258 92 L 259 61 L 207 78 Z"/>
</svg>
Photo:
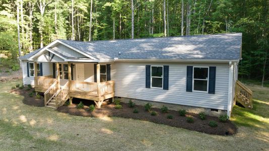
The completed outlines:
<svg viewBox="0 0 269 151">
<path fill-rule="evenodd" d="M 7 92 L 17 83 L 22 81 L 0 83 L 0 150 L 269 150 L 268 113 L 260 112 L 269 108 L 259 105 L 268 103 L 263 89 L 255 88 L 261 93 L 254 95 L 253 111 L 235 106 L 232 120 L 238 133 L 219 136 L 141 120 L 80 117 L 28 106 L 22 96 Z M 252 114 L 258 117 L 247 117 Z M 242 124 L 246 122 L 253 124 Z"/>
</svg>

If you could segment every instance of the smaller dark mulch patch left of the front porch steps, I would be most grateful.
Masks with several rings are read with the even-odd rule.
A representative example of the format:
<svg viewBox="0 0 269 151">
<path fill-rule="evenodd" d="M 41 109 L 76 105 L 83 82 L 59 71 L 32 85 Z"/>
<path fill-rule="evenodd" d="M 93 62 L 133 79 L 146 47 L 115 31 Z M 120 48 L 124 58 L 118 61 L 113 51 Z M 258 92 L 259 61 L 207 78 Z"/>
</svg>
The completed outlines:
<svg viewBox="0 0 269 151">
<path fill-rule="evenodd" d="M 26 105 L 32 105 L 32 106 L 36 106 L 36 107 L 43 107 L 44 106 L 44 97 L 42 97 L 42 94 L 40 94 L 41 98 L 37 99 L 36 95 L 35 95 L 35 92 L 33 92 L 34 89 L 32 88 L 30 90 L 27 90 L 27 88 L 28 87 L 24 87 L 23 89 L 16 88 L 16 89 L 11 90 L 10 92 L 18 94 L 18 95 L 21 95 L 21 96 L 24 96 L 23 103 L 26 104 Z M 29 97 L 30 93 L 33 93 L 34 96 Z"/>
</svg>

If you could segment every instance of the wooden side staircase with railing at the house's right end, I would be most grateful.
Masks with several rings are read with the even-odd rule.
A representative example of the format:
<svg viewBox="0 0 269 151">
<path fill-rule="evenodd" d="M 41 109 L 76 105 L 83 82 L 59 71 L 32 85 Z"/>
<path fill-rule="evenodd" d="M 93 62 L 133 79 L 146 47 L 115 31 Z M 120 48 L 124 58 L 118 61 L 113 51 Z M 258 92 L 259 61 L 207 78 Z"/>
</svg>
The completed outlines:
<svg viewBox="0 0 269 151">
<path fill-rule="evenodd" d="M 240 81 L 236 81 L 234 103 L 237 101 L 245 108 L 252 109 L 252 95 L 253 92 L 250 89 L 248 89 Z"/>
</svg>

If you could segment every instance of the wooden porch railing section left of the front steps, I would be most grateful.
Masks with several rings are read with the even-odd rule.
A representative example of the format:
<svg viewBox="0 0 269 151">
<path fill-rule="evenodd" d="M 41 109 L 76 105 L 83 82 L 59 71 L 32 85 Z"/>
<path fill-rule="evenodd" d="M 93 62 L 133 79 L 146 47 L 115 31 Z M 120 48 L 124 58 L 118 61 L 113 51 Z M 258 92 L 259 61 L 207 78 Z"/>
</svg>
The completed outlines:
<svg viewBox="0 0 269 151">
<path fill-rule="evenodd" d="M 35 77 L 35 88 L 48 89 L 55 81 L 52 75 Z"/>
</svg>

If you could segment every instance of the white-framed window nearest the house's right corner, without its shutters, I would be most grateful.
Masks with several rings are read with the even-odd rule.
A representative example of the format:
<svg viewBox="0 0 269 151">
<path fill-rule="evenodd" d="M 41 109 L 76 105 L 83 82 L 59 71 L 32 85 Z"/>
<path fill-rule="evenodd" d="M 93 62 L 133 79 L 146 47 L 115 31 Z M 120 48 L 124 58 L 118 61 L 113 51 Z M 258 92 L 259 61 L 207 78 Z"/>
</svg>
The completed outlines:
<svg viewBox="0 0 269 151">
<path fill-rule="evenodd" d="M 208 67 L 193 67 L 193 91 L 208 92 Z"/>
</svg>

